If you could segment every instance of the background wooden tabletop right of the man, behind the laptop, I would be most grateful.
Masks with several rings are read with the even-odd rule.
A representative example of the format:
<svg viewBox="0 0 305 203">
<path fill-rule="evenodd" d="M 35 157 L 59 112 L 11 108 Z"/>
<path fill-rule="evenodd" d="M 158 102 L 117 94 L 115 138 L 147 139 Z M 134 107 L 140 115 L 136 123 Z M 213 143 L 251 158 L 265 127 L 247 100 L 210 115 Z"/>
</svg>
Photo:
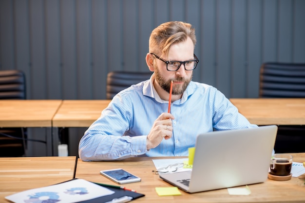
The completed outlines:
<svg viewBox="0 0 305 203">
<path fill-rule="evenodd" d="M 230 99 L 250 123 L 305 125 L 305 99 Z"/>
</svg>

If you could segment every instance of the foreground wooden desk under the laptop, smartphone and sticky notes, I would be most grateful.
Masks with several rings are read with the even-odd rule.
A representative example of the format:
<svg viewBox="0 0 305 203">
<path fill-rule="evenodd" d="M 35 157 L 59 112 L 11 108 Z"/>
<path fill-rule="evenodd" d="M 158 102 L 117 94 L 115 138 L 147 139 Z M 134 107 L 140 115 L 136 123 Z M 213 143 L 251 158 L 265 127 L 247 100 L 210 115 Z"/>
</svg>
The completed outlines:
<svg viewBox="0 0 305 203">
<path fill-rule="evenodd" d="M 305 161 L 305 153 L 292 154 L 296 162 Z M 166 158 L 166 157 L 165 157 Z M 178 157 L 181 158 L 181 157 Z M 164 202 L 200 202 L 200 203 L 267 203 L 267 202 L 305 202 L 305 174 L 289 181 L 273 181 L 267 179 L 265 183 L 249 185 L 250 195 L 234 196 L 229 195 L 227 189 L 218 189 L 199 193 L 187 193 L 182 190 L 182 195 L 178 196 L 158 196 L 155 187 L 172 186 L 161 180 L 158 175 L 154 175 L 154 165 L 152 159 L 156 157 L 137 157 L 123 161 L 107 162 L 83 162 L 78 159 L 76 167 L 76 178 L 83 178 L 104 184 L 117 185 L 111 180 L 99 174 L 102 169 L 123 168 L 142 178 L 141 182 L 124 184 L 127 188 L 135 189 L 145 197 L 135 200 L 135 202 L 164 203 Z M 244 187 L 244 186 L 242 186 Z"/>
</svg>

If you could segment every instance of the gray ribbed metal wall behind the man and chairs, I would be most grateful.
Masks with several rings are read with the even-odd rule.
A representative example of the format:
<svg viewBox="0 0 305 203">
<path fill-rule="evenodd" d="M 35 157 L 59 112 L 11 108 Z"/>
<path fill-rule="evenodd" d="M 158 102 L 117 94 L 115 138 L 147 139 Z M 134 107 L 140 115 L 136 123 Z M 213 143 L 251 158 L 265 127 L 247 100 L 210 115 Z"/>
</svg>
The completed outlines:
<svg viewBox="0 0 305 203">
<path fill-rule="evenodd" d="M 196 28 L 193 80 L 227 97 L 257 97 L 263 62 L 305 63 L 304 0 L 0 0 L 0 69 L 26 73 L 28 99 L 105 99 L 170 20 Z"/>
</svg>

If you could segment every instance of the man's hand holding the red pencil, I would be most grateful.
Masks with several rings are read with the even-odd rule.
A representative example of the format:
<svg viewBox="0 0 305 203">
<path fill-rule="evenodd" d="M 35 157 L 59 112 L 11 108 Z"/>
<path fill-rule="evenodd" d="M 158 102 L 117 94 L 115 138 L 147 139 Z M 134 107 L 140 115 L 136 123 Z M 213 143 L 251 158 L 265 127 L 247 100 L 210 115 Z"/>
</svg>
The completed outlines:
<svg viewBox="0 0 305 203">
<path fill-rule="evenodd" d="M 164 139 L 172 137 L 172 119 L 170 113 L 162 113 L 153 123 L 151 132 L 147 136 L 147 150 L 155 148 Z"/>
</svg>

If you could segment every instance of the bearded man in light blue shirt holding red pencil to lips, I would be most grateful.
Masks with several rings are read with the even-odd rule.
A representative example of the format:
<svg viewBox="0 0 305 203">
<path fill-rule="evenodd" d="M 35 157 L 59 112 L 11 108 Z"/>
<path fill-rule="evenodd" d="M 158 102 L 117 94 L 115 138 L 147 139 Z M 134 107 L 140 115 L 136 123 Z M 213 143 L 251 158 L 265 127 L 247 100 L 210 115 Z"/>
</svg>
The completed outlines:
<svg viewBox="0 0 305 203">
<path fill-rule="evenodd" d="M 187 156 L 200 133 L 257 127 L 216 88 L 191 81 L 199 62 L 195 44 L 188 23 L 167 22 L 152 31 L 146 55 L 152 77 L 118 93 L 89 127 L 79 143 L 83 161 Z"/>
</svg>

